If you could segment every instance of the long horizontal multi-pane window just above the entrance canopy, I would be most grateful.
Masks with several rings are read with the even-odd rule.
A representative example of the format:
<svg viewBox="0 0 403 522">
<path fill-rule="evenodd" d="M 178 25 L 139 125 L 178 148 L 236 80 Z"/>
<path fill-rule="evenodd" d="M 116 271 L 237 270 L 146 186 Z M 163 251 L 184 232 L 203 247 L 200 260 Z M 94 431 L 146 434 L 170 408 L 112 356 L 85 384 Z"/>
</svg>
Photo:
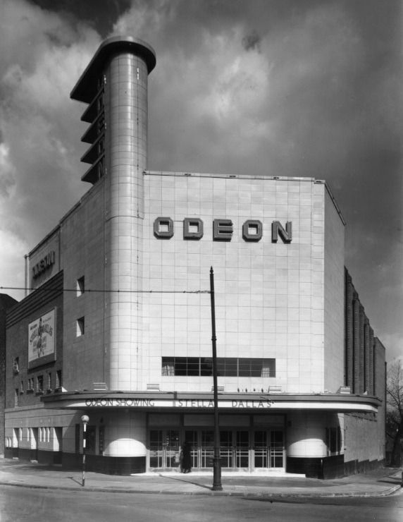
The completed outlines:
<svg viewBox="0 0 403 522">
<path fill-rule="evenodd" d="M 213 375 L 213 360 L 209 357 L 163 357 L 162 375 Z M 275 377 L 275 359 L 217 358 L 220 377 Z"/>
</svg>

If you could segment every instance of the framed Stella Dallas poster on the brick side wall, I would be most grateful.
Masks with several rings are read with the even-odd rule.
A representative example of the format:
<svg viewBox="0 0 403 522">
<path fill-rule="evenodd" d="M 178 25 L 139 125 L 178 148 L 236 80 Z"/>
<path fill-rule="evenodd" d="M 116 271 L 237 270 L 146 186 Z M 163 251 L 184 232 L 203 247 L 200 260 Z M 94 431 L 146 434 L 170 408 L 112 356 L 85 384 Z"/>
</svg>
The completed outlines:
<svg viewBox="0 0 403 522">
<path fill-rule="evenodd" d="M 28 368 L 55 360 L 56 309 L 28 324 Z"/>
</svg>

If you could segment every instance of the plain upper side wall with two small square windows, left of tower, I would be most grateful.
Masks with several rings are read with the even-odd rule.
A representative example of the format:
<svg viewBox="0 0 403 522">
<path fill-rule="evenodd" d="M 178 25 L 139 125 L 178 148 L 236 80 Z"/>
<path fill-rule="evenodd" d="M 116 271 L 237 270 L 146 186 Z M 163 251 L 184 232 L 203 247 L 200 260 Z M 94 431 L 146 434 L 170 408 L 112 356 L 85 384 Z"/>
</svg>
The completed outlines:
<svg viewBox="0 0 403 522">
<path fill-rule="evenodd" d="M 93 389 L 94 382 L 105 382 L 107 376 L 104 205 L 102 178 L 61 221 L 61 265 L 65 287 L 71 290 L 64 293 L 63 322 L 68 390 Z M 84 291 L 78 288 L 79 279 Z"/>
</svg>

